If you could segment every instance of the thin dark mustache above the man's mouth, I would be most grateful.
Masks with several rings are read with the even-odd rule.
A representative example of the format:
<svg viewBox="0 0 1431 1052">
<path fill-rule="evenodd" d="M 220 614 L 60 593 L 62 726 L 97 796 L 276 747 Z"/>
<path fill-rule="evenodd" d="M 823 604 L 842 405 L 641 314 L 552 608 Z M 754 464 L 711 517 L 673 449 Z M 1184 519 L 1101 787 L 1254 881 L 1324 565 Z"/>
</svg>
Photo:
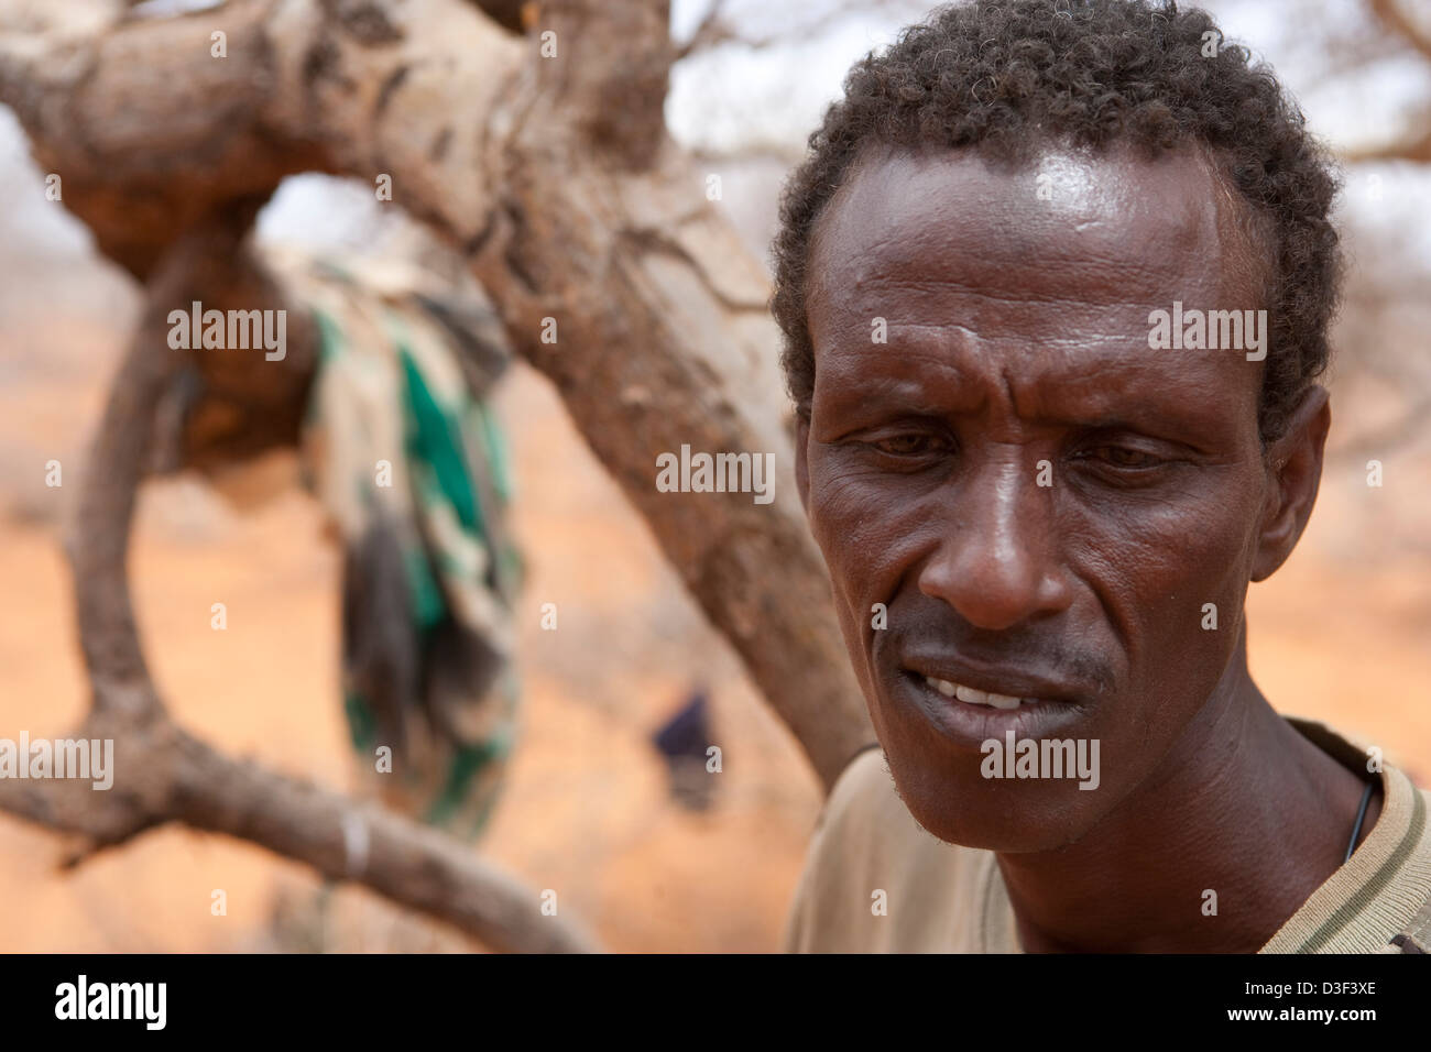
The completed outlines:
<svg viewBox="0 0 1431 1052">
<path fill-rule="evenodd" d="M 1113 667 L 1102 653 L 1056 635 L 1052 625 L 992 631 L 969 624 L 947 607 L 896 613 L 892 605 L 889 628 L 874 633 L 874 657 L 899 661 L 914 654 L 926 658 L 949 654 L 982 666 L 1019 667 L 1096 693 L 1115 684 Z"/>
</svg>

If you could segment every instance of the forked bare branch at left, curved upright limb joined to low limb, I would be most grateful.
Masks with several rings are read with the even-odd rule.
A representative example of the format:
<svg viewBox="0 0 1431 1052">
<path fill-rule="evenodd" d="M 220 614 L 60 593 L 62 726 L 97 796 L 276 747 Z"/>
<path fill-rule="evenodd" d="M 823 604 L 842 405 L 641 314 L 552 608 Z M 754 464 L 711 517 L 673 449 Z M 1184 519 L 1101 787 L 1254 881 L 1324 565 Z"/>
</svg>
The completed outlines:
<svg viewBox="0 0 1431 1052">
<path fill-rule="evenodd" d="M 159 700 L 135 625 L 124 557 L 156 404 L 183 361 L 167 346 L 167 313 L 190 299 L 223 302 L 255 285 L 245 272 L 242 240 L 256 209 L 249 202 L 225 210 L 159 260 L 142 322 L 113 379 L 67 537 L 80 644 L 94 688 L 90 717 L 72 737 L 114 743 L 113 789 L 0 779 L 0 810 L 79 836 L 67 866 L 180 822 L 249 840 L 331 879 L 366 885 L 498 950 L 594 949 L 578 926 L 544 916 L 534 890 L 451 837 L 223 756 L 176 726 Z M 313 341 L 303 325 L 290 331 L 299 342 Z M 298 358 L 311 351 L 298 351 Z"/>
</svg>

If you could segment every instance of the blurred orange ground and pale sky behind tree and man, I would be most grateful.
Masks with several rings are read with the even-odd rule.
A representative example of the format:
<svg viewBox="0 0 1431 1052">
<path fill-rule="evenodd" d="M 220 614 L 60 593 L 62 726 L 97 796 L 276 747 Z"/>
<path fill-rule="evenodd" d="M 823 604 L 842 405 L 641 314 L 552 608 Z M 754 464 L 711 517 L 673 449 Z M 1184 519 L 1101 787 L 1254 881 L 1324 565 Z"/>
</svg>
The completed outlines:
<svg viewBox="0 0 1431 1052">
<path fill-rule="evenodd" d="M 66 0 L 86 17 L 86 0 Z M 153 4 L 150 4 L 153 6 Z M 202 7 L 169 0 L 167 10 Z M 1282 711 L 1381 744 L 1431 779 L 1431 4 L 1211 0 L 1269 60 L 1347 162 L 1351 255 L 1329 376 L 1334 429 L 1301 547 L 1249 600 L 1252 670 Z M 671 31 L 710 4 L 675 0 Z M 784 173 L 844 70 L 927 4 L 731 0 L 673 70 L 671 133 L 723 180 L 723 208 L 766 259 Z M 1420 40 L 1417 39 L 1420 33 Z M 1420 49 L 1418 49 L 1420 43 Z M 376 253 L 421 235 L 363 183 L 289 179 L 260 216 L 275 248 Z M 59 531 L 139 288 L 46 200 L 0 107 L 0 736 L 62 736 L 89 690 Z M 771 348 L 776 354 L 777 348 Z M 511 444 L 512 531 L 527 580 L 519 730 L 479 850 L 617 950 L 774 950 L 820 807 L 794 740 L 704 621 L 565 418 L 515 365 L 495 395 Z M 1367 462 L 1382 464 L 1369 487 Z M 266 457 L 229 492 L 190 475 L 145 484 L 130 555 L 146 654 L 175 716 L 218 747 L 356 786 L 339 686 L 341 551 Z M 255 481 L 256 479 L 256 481 Z M 249 500 L 249 494 L 260 494 Z M 210 604 L 228 604 L 226 631 Z M 555 603 L 561 630 L 542 631 Z M 704 807 L 671 790 L 657 733 L 694 694 L 726 763 Z M 326 893 L 256 847 L 162 829 L 57 872 L 57 837 L 0 814 L 0 950 L 471 949 L 361 889 Z M 213 917 L 210 889 L 228 892 Z"/>
</svg>

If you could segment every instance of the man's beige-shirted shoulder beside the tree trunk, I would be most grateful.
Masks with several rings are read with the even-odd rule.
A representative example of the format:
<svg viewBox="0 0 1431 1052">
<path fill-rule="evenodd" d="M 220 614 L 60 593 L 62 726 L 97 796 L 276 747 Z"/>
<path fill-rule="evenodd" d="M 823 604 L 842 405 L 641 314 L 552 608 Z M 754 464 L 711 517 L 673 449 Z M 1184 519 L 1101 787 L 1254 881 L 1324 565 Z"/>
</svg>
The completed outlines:
<svg viewBox="0 0 1431 1052">
<path fill-rule="evenodd" d="M 953 949 L 987 852 L 926 832 L 894 789 L 884 753 L 859 753 L 814 829 L 786 926 L 797 952 Z M 972 923 L 972 922 L 970 922 Z"/>
</svg>

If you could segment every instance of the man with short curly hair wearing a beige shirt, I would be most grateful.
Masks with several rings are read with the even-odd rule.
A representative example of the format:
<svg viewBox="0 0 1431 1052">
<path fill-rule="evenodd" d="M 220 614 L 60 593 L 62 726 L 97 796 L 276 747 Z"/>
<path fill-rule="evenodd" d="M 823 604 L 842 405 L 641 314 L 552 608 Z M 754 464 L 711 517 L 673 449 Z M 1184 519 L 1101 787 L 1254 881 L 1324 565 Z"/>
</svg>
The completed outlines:
<svg viewBox="0 0 1431 1052">
<path fill-rule="evenodd" d="M 980 0 L 853 69 L 774 309 L 881 749 L 790 948 L 1431 948 L 1425 793 L 1246 664 L 1321 475 L 1334 192 L 1171 3 Z"/>
</svg>

